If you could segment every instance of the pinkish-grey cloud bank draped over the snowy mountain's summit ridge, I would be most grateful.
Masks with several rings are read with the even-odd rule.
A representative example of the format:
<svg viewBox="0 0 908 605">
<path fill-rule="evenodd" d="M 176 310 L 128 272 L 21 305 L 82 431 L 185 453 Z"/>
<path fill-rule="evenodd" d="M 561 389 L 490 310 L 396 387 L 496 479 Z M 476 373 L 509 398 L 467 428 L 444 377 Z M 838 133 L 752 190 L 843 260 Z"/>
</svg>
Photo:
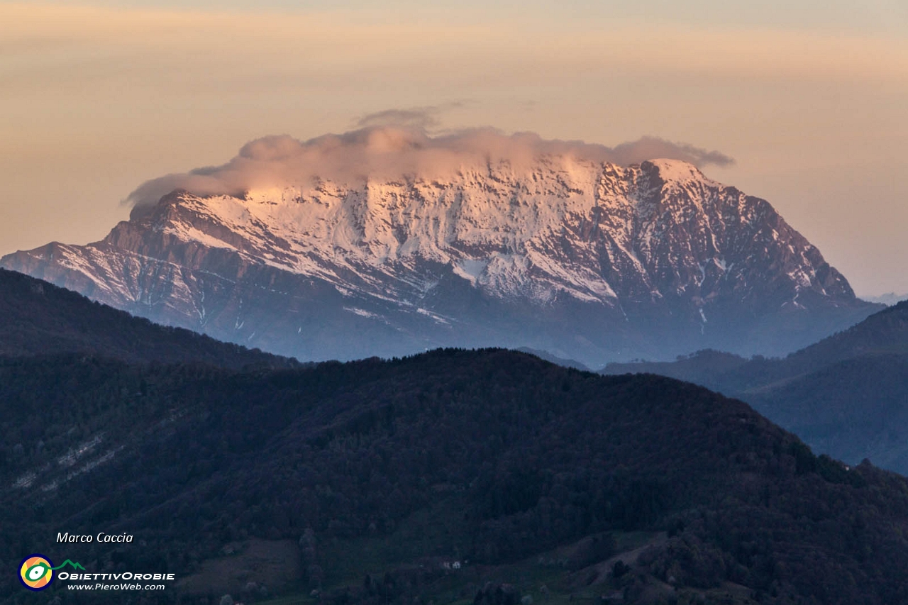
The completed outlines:
<svg viewBox="0 0 908 605">
<path fill-rule="evenodd" d="M 147 181 L 129 194 L 126 203 L 133 205 L 134 214 L 143 213 L 176 189 L 207 195 L 276 185 L 302 186 L 316 179 L 359 183 L 369 178 L 393 179 L 411 174 L 431 178 L 489 162 L 507 163 L 520 170 L 546 155 L 596 164 L 637 164 L 654 158 L 683 160 L 697 166 L 734 163 L 717 151 L 652 136 L 615 147 L 546 140 L 535 133 L 504 134 L 494 128 L 433 136 L 425 130 L 435 117 L 429 109 L 433 108 L 370 114 L 360 120 L 364 127 L 358 130 L 325 134 L 309 141 L 286 134 L 264 136 L 243 145 L 226 164 Z"/>
</svg>

